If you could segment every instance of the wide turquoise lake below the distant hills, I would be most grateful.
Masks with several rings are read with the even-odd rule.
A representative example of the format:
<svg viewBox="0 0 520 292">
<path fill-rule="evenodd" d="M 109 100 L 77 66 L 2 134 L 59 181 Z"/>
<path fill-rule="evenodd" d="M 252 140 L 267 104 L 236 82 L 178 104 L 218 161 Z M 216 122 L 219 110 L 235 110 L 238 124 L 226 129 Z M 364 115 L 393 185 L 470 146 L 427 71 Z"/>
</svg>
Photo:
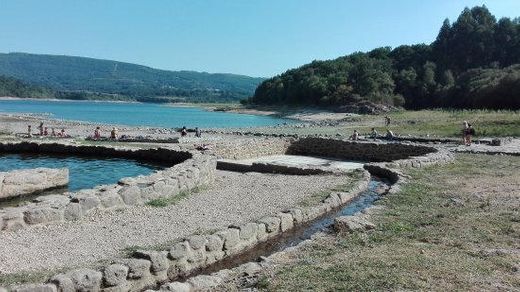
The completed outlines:
<svg viewBox="0 0 520 292">
<path fill-rule="evenodd" d="M 0 100 L 1 112 L 38 113 L 56 119 L 163 128 L 260 127 L 293 122 L 267 116 L 205 111 L 197 107 L 93 101 Z"/>
</svg>

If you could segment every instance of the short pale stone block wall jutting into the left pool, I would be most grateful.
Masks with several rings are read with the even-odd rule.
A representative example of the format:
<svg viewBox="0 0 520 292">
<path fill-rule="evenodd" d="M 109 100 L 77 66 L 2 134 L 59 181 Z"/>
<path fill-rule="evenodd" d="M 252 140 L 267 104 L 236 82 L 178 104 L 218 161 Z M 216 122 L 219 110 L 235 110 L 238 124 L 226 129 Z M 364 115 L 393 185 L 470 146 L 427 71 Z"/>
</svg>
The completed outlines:
<svg viewBox="0 0 520 292">
<path fill-rule="evenodd" d="M 0 172 L 0 199 L 30 195 L 66 186 L 68 183 L 69 170 L 67 168 L 40 167 Z"/>
</svg>

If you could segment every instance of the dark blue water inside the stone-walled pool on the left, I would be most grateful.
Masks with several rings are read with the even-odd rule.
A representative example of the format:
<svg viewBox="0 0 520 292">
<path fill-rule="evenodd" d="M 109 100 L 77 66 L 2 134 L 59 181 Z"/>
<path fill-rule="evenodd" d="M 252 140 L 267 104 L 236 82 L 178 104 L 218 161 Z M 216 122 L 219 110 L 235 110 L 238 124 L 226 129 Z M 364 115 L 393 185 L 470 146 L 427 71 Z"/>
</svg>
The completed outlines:
<svg viewBox="0 0 520 292">
<path fill-rule="evenodd" d="M 69 191 L 114 184 L 123 177 L 148 175 L 162 167 L 119 158 L 1 154 L 0 172 L 37 167 L 69 169 Z"/>
</svg>

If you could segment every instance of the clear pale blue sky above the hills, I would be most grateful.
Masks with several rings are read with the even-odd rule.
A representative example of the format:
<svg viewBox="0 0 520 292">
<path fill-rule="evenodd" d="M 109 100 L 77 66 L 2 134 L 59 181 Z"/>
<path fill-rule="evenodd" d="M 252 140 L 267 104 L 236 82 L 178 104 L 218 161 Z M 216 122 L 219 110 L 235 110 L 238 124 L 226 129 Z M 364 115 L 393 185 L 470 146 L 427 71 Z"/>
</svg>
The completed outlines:
<svg viewBox="0 0 520 292">
<path fill-rule="evenodd" d="M 445 18 L 519 0 L 0 0 L 0 52 L 269 77 L 312 60 L 430 43 Z"/>
</svg>

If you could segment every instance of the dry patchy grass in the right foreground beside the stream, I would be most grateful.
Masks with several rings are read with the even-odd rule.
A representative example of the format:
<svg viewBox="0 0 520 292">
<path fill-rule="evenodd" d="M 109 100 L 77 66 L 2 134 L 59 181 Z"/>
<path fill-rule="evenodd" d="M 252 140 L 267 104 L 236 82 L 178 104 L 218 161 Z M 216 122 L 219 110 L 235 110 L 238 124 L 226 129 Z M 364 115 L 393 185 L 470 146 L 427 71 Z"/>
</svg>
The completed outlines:
<svg viewBox="0 0 520 292">
<path fill-rule="evenodd" d="M 520 289 L 519 157 L 408 170 L 375 230 L 332 235 L 260 281 L 276 291 Z"/>
</svg>

